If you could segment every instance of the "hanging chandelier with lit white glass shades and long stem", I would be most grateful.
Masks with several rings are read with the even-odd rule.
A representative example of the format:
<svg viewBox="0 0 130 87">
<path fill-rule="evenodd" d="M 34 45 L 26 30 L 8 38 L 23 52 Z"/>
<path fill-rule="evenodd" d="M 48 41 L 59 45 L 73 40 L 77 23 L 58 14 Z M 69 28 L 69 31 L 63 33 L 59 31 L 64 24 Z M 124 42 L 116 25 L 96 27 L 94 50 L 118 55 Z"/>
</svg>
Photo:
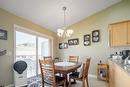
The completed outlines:
<svg viewBox="0 0 130 87">
<path fill-rule="evenodd" d="M 62 28 L 57 29 L 57 35 L 59 37 L 63 37 L 63 38 L 70 37 L 74 33 L 74 31 L 72 29 L 67 29 L 67 26 L 66 26 L 66 14 L 65 14 L 66 9 L 67 9 L 67 7 L 62 8 L 62 10 L 64 11 L 64 25 L 63 25 Z"/>
</svg>

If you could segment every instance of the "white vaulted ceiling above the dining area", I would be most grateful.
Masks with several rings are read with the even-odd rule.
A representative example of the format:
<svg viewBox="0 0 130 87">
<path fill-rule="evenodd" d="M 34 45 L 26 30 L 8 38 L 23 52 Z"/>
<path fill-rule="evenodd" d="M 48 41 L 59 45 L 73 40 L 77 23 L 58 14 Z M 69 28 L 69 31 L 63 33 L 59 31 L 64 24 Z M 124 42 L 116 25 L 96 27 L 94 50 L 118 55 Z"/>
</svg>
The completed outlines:
<svg viewBox="0 0 130 87">
<path fill-rule="evenodd" d="M 0 0 L 3 8 L 49 30 L 63 26 L 63 6 L 67 25 L 77 23 L 121 0 Z"/>
</svg>

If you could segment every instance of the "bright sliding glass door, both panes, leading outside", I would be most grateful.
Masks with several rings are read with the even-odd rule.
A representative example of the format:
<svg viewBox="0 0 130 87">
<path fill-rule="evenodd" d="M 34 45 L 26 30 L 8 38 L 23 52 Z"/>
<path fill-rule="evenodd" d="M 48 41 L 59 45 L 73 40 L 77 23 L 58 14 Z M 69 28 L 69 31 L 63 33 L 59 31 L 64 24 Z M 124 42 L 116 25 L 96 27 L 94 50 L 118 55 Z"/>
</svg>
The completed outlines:
<svg viewBox="0 0 130 87">
<path fill-rule="evenodd" d="M 50 56 L 50 39 L 35 34 L 15 31 L 16 39 L 16 61 L 24 60 L 27 62 L 27 77 L 40 74 L 38 60 L 43 56 Z"/>
</svg>

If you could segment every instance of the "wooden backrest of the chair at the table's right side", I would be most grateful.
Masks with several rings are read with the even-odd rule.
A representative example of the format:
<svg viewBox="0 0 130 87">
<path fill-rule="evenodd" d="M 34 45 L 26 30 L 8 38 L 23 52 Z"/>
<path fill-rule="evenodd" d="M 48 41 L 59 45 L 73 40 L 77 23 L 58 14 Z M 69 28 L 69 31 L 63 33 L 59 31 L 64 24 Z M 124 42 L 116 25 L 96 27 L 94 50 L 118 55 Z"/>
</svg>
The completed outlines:
<svg viewBox="0 0 130 87">
<path fill-rule="evenodd" d="M 83 64 L 83 78 L 88 78 L 88 70 L 91 58 L 87 58 L 86 62 Z"/>
</svg>

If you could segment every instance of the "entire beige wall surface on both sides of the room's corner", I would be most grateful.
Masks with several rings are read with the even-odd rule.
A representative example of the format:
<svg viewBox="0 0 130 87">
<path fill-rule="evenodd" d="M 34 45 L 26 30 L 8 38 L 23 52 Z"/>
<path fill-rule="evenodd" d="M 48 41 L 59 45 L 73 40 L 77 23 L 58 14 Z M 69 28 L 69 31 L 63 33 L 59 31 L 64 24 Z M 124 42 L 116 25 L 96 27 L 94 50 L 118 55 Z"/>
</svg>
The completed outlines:
<svg viewBox="0 0 130 87">
<path fill-rule="evenodd" d="M 90 65 L 90 74 L 96 74 L 96 64 L 101 59 L 103 62 L 107 61 L 110 53 L 122 49 L 130 49 L 130 47 L 108 47 L 108 24 L 130 19 L 130 0 L 123 0 L 102 12 L 86 18 L 85 20 L 71 26 L 74 29 L 74 35 L 71 38 L 79 38 L 80 43 L 77 46 L 70 46 L 68 49 L 57 50 L 56 34 L 46 30 L 39 25 L 30 21 L 17 17 L 0 9 L 0 27 L 8 31 L 8 40 L 0 40 L 0 48 L 7 49 L 13 54 L 13 24 L 20 25 L 32 29 L 37 32 L 54 37 L 54 57 L 57 55 L 60 58 L 68 58 L 68 55 L 80 56 L 80 61 L 83 61 L 86 56 L 92 57 Z M 44 19 L 43 19 L 44 20 Z M 99 43 L 91 43 L 90 46 L 83 45 L 83 35 L 91 34 L 92 30 L 100 29 L 101 40 Z M 67 41 L 68 39 L 65 39 Z M 60 40 L 59 40 L 60 41 Z M 13 83 L 13 55 L 0 56 L 0 85 L 8 85 Z"/>
</svg>

